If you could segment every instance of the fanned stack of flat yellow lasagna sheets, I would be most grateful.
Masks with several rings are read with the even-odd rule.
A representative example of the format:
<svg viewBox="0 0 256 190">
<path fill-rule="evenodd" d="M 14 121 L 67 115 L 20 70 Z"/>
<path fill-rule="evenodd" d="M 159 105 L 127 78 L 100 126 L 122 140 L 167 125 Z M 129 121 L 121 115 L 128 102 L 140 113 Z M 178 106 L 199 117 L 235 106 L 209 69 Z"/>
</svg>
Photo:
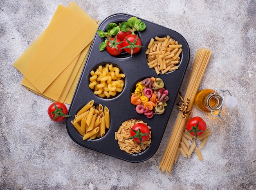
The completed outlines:
<svg viewBox="0 0 256 190">
<path fill-rule="evenodd" d="M 97 28 L 75 2 L 59 5 L 46 30 L 13 64 L 24 75 L 22 85 L 70 104 Z"/>
</svg>

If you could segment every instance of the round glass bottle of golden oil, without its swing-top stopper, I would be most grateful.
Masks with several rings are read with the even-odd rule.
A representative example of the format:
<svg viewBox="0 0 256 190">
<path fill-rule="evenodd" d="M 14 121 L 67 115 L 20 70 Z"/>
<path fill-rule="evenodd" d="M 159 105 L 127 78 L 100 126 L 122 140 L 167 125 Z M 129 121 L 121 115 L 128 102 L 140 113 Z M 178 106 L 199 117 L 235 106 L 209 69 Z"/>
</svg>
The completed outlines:
<svg viewBox="0 0 256 190">
<path fill-rule="evenodd" d="M 204 89 L 196 94 L 195 105 L 204 112 L 217 111 L 222 107 L 222 97 L 215 90 Z"/>
</svg>

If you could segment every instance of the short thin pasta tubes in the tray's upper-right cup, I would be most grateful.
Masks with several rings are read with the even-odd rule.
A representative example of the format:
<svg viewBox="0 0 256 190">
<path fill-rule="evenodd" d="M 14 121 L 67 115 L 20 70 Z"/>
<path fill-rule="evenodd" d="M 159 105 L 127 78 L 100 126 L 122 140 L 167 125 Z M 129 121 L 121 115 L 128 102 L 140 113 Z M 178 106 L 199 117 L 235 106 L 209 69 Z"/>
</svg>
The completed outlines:
<svg viewBox="0 0 256 190">
<path fill-rule="evenodd" d="M 178 69 L 181 52 L 182 44 L 167 35 L 151 38 L 145 53 L 149 68 L 155 69 L 157 74 L 165 74 Z"/>
</svg>

